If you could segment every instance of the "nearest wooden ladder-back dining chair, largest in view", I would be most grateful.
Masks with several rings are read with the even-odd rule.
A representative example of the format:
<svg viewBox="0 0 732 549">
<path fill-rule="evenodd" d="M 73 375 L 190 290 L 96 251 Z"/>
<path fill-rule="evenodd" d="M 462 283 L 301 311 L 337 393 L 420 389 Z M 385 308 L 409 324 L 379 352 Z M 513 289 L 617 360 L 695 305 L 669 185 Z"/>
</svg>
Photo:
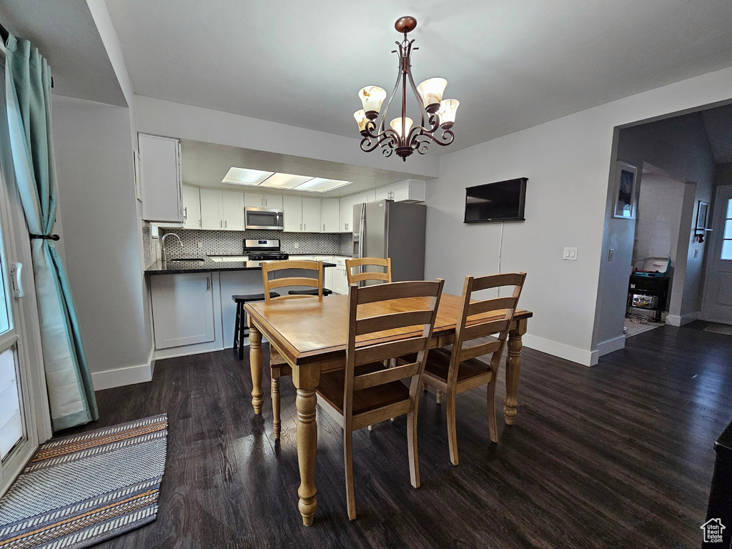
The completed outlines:
<svg viewBox="0 0 732 549">
<path fill-rule="evenodd" d="M 354 430 L 407 414 L 407 444 L 411 485 L 419 488 L 417 455 L 417 408 L 419 385 L 427 359 L 427 348 L 435 326 L 444 280 L 397 282 L 348 288 L 348 340 L 346 369 L 321 373 L 318 404 L 343 427 L 343 459 L 346 468 L 348 518 L 356 518 L 354 498 Z M 408 305 L 383 304 L 411 298 Z M 384 341 L 384 337 L 411 333 L 413 337 Z M 414 362 L 394 368 L 384 361 L 416 353 Z M 409 380 L 406 386 L 401 380 Z"/>
</svg>

